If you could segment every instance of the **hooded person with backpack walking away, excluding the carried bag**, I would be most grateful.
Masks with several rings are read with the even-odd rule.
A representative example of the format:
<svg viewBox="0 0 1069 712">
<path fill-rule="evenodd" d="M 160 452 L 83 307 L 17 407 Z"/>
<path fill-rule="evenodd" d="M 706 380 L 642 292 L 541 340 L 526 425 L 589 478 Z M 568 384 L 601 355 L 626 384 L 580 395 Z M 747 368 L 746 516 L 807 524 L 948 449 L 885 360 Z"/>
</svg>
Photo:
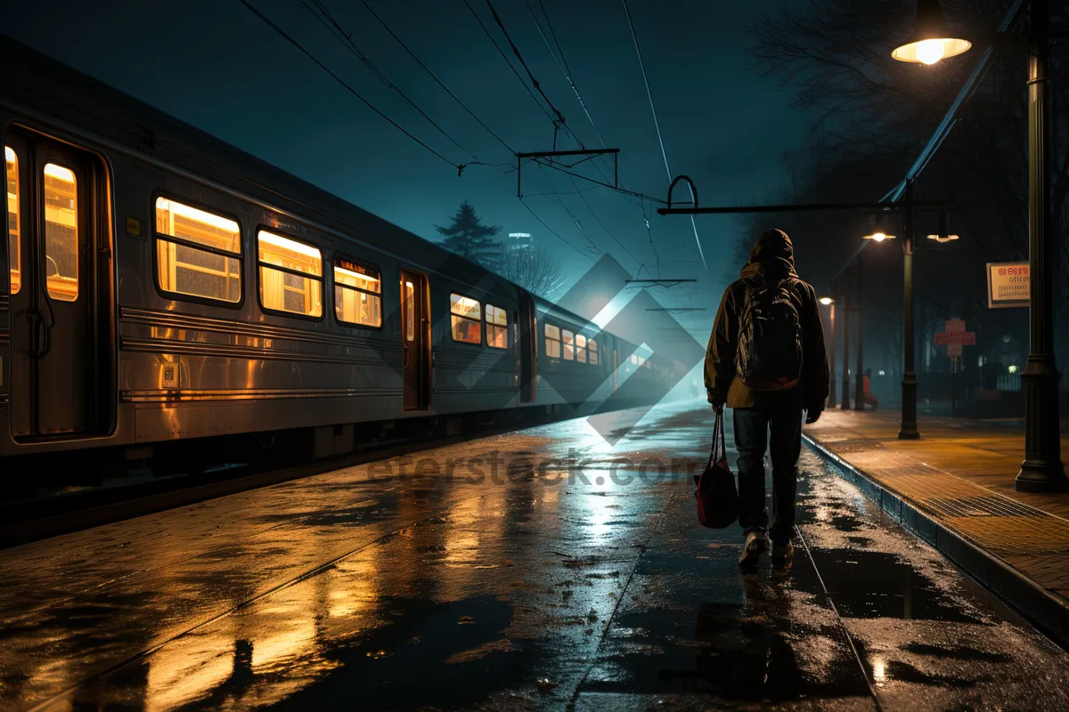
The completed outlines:
<svg viewBox="0 0 1069 712">
<path fill-rule="evenodd" d="M 749 262 L 724 291 L 706 350 L 706 394 L 732 409 L 739 453 L 739 564 L 757 564 L 772 539 L 774 563 L 794 553 L 796 466 L 802 414 L 816 423 L 828 394 L 827 352 L 817 292 L 794 270 L 787 233 L 757 238 Z M 771 432 L 771 438 L 770 438 Z M 772 526 L 765 509 L 764 452 L 772 455 Z"/>
</svg>

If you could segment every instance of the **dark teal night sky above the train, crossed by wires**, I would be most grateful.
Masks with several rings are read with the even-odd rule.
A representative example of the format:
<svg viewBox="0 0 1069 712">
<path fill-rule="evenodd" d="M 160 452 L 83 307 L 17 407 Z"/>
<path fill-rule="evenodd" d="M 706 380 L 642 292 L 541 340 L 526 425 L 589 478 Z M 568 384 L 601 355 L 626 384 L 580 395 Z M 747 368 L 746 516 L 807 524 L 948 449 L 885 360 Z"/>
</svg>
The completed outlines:
<svg viewBox="0 0 1069 712">
<path fill-rule="evenodd" d="M 311 0 L 306 0 L 312 5 Z M 485 0 L 468 0 L 509 51 Z M 301 4 L 250 0 L 309 51 L 398 124 L 452 163 L 472 160 L 387 88 Z M 600 141 L 543 43 L 529 7 L 538 0 L 494 3 L 543 91 L 588 147 Z M 390 81 L 459 144 L 486 163 L 514 158 L 448 96 L 392 39 L 359 0 L 327 0 L 353 43 Z M 408 47 L 490 128 L 517 152 L 547 151 L 553 125 L 506 65 L 464 0 L 370 0 Z M 663 199 L 664 160 L 621 0 L 543 0 L 573 79 L 605 142 L 619 147 L 632 189 Z M 789 106 L 790 91 L 762 80 L 745 48 L 747 25 L 775 2 L 629 0 L 646 61 L 671 171 L 692 176 L 703 205 L 769 200 L 786 181 L 783 153 L 805 140 L 806 121 Z M 390 126 L 286 43 L 238 0 L 6 2 L 0 27 L 159 109 L 362 208 L 430 239 L 463 200 L 502 233 L 529 232 L 577 276 L 594 257 L 586 235 L 634 274 L 656 275 L 638 201 L 532 164 L 524 170 L 527 204 L 568 242 L 549 234 L 516 199 L 508 167 L 471 165 L 462 177 L 446 162 Z M 544 26 L 543 26 L 544 28 Z M 547 33 L 548 34 L 548 33 Z M 552 39 L 551 39 L 552 42 Z M 526 74 L 513 62 L 526 79 Z M 558 148 L 575 148 L 561 136 Z M 589 165 L 585 175 L 600 176 Z M 562 192 L 546 195 L 546 192 Z M 539 195 L 538 193 L 543 193 Z M 680 187 L 679 194 L 686 197 Z M 662 278 L 699 279 L 699 285 L 657 288 L 668 306 L 707 306 L 680 320 L 704 338 L 725 275 L 738 266 L 729 217 L 699 216 L 709 263 L 704 272 L 686 217 L 662 217 L 646 205 Z M 770 225 L 772 226 L 772 225 Z M 622 247 L 621 247 L 622 244 Z M 803 279 L 805 275 L 802 275 Z"/>
</svg>

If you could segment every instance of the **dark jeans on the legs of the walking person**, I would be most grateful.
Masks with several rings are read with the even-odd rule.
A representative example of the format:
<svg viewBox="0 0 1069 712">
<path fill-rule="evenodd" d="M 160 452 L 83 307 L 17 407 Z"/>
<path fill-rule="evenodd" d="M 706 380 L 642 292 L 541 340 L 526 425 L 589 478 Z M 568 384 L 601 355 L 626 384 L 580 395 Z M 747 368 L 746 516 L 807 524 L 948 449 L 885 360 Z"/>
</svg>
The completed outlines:
<svg viewBox="0 0 1069 712">
<path fill-rule="evenodd" d="M 739 452 L 739 524 L 748 534 L 765 532 L 764 450 L 772 455 L 773 543 L 785 544 L 794 533 L 794 495 L 799 455 L 802 453 L 802 409 L 787 402 L 758 408 L 735 408 L 735 449 Z M 769 438 L 769 431 L 772 438 Z"/>
</svg>

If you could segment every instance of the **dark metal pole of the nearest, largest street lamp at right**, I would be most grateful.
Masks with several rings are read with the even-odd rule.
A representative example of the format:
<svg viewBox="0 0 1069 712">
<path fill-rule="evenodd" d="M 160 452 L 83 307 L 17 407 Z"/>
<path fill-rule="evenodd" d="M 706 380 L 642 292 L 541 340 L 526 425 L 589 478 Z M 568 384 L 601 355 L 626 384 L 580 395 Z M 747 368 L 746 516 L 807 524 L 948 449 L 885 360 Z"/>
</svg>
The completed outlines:
<svg viewBox="0 0 1069 712">
<path fill-rule="evenodd" d="M 1054 363 L 1053 270 L 1057 260 L 1050 206 L 1050 125 L 1047 121 L 1048 0 L 1032 0 L 1028 32 L 1028 362 L 1024 386 L 1024 462 L 1019 492 L 1069 489 L 1058 439 L 1058 371 Z"/>
</svg>

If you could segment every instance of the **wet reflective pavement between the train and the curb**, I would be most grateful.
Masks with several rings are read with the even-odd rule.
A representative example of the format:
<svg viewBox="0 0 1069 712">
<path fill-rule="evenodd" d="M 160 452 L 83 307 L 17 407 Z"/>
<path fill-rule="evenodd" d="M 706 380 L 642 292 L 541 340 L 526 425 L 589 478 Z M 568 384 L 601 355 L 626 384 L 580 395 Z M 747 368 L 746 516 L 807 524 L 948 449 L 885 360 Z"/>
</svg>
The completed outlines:
<svg viewBox="0 0 1069 712">
<path fill-rule="evenodd" d="M 665 405 L 0 551 L 0 709 L 1069 708 L 1060 648 L 808 450 L 792 565 L 740 572 L 710 431 Z"/>
</svg>

